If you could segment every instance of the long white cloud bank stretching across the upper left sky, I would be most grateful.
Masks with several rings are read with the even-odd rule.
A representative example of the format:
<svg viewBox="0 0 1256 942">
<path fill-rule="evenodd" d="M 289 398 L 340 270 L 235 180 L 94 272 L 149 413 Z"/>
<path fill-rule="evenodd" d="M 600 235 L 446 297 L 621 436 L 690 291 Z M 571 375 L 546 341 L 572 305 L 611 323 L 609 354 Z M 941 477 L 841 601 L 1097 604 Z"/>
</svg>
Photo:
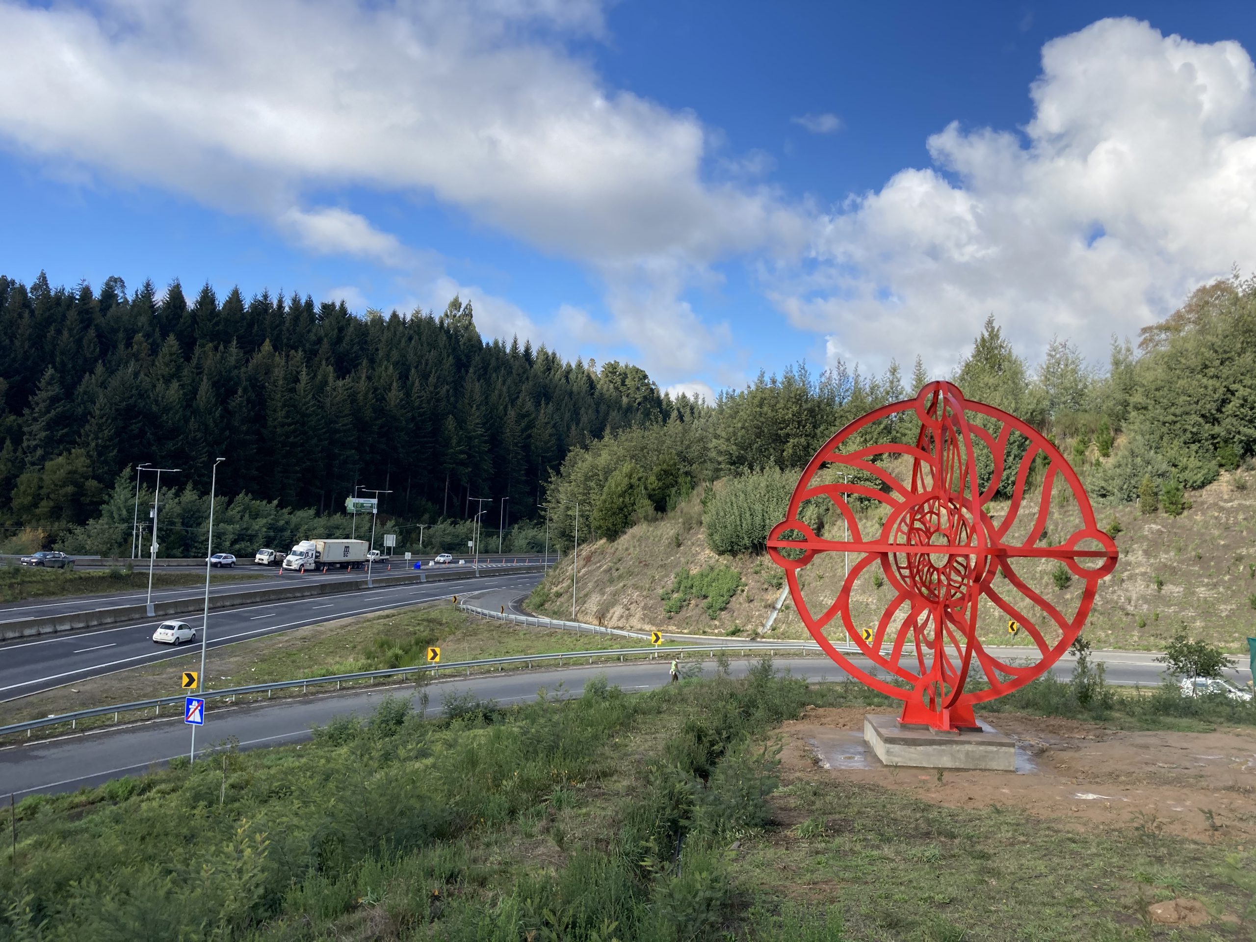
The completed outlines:
<svg viewBox="0 0 1256 942">
<path fill-rule="evenodd" d="M 669 317 L 690 275 L 804 224 L 769 188 L 705 180 L 718 136 L 563 46 L 603 33 L 598 0 L 0 0 L 0 136 L 392 266 L 393 236 L 303 193 L 435 197 L 594 271 L 666 263 L 669 294 L 631 293 Z"/>
</svg>

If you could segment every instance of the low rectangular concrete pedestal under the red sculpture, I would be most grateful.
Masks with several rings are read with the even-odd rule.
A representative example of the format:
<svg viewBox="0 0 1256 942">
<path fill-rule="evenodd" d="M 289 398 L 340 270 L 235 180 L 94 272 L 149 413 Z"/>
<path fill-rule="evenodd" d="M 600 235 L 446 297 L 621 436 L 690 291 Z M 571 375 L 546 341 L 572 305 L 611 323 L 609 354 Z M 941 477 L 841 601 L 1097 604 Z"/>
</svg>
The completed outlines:
<svg viewBox="0 0 1256 942">
<path fill-rule="evenodd" d="M 1016 744 L 986 723 L 980 731 L 937 732 L 899 726 L 896 716 L 864 717 L 864 741 L 885 765 L 1016 771 Z"/>
</svg>

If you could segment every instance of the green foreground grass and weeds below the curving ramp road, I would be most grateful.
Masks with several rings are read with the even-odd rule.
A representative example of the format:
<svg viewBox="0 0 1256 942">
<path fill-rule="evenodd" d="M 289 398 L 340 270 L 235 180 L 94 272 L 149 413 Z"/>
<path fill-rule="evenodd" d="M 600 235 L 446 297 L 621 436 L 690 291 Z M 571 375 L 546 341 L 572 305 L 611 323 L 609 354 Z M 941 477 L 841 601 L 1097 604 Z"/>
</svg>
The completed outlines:
<svg viewBox="0 0 1256 942">
<path fill-rule="evenodd" d="M 782 771 L 772 728 L 852 688 L 765 662 L 435 723 L 388 701 L 301 749 L 29 798 L 0 938 L 1149 939 L 1178 896 L 1256 928 L 1256 858 L 1225 838 Z"/>
</svg>

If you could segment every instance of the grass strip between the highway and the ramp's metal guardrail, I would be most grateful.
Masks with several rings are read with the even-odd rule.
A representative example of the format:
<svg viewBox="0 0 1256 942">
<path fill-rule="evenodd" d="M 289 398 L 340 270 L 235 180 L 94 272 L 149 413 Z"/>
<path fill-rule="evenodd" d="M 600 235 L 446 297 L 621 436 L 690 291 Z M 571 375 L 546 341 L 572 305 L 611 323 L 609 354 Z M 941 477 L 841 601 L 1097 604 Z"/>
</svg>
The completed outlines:
<svg viewBox="0 0 1256 942">
<path fill-rule="evenodd" d="M 476 661 L 560 651 L 605 651 L 649 647 L 648 642 L 605 634 L 544 631 L 474 618 L 450 604 L 422 605 L 362 618 L 294 628 L 280 634 L 212 649 L 206 662 L 207 690 L 252 683 L 381 671 L 426 663 L 427 647 L 441 648 L 441 661 Z M 178 693 L 185 668 L 196 669 L 200 649 L 160 664 L 35 693 L 0 705 L 0 723 Z M 93 721 L 84 721 L 90 726 Z M 99 717 L 112 723 L 113 716 Z M 51 727 L 55 728 L 55 727 Z"/>
</svg>

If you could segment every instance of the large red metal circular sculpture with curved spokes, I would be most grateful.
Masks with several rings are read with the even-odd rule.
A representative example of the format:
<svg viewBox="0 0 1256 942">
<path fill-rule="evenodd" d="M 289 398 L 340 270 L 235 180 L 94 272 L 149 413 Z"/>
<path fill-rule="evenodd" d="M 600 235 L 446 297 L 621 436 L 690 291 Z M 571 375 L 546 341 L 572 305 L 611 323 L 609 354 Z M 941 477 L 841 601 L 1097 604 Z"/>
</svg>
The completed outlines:
<svg viewBox="0 0 1256 942">
<path fill-rule="evenodd" d="M 909 421 L 913 414 L 919 421 L 914 446 L 854 447 L 877 436 L 877 423 Z M 1024 438 L 1015 440 L 1010 453 L 1017 435 Z M 899 455 L 906 460 L 894 457 Z M 911 475 L 892 474 L 887 465 L 896 461 L 904 467 L 909 463 Z M 1009 466 L 1017 461 L 1011 474 Z M 1031 521 L 1026 515 L 1017 524 L 1035 463 L 1041 474 L 1039 506 Z M 816 481 L 824 468 L 830 468 L 823 475 L 830 482 Z M 991 502 L 1000 484 L 1011 481 L 1010 500 L 995 510 Z M 1071 490 L 1080 526 L 1053 543 L 1055 534 L 1046 530 L 1053 500 L 1066 502 L 1055 491 L 1058 482 Z M 848 495 L 884 505 L 880 533 L 864 539 Z M 815 535 L 803 520 L 804 501 L 814 497 L 833 501 L 845 517 L 849 539 Z M 1020 533 L 1012 536 L 1012 530 Z M 1009 693 L 1055 663 L 1090 614 L 1099 580 L 1117 565 L 1115 543 L 1095 524 L 1081 481 L 1055 446 L 1015 416 L 965 399 L 958 387 L 945 382 L 927 384 L 914 399 L 869 412 L 825 442 L 794 490 L 786 519 L 772 528 L 767 548 L 785 569 L 803 623 L 829 657 L 869 687 L 904 700 L 899 722 L 937 730 L 980 728 L 973 703 Z M 818 554 L 843 551 L 858 556 L 852 556 L 836 599 L 815 615 L 804 599 L 800 573 Z M 1016 569 L 1022 560 L 1058 560 L 1081 580 L 1071 618 L 1026 583 Z M 850 613 L 850 597 L 869 566 L 879 566 L 894 597 L 875 625 L 860 628 Z M 981 643 L 977 615 L 982 602 L 1007 617 L 1009 632 L 1024 631 L 1032 639 L 1027 664 L 1000 661 Z M 834 647 L 825 628 L 838 615 L 858 652 L 889 679 Z M 967 691 L 973 661 L 988 686 Z M 911 686 L 892 683 L 892 678 Z"/>
</svg>

